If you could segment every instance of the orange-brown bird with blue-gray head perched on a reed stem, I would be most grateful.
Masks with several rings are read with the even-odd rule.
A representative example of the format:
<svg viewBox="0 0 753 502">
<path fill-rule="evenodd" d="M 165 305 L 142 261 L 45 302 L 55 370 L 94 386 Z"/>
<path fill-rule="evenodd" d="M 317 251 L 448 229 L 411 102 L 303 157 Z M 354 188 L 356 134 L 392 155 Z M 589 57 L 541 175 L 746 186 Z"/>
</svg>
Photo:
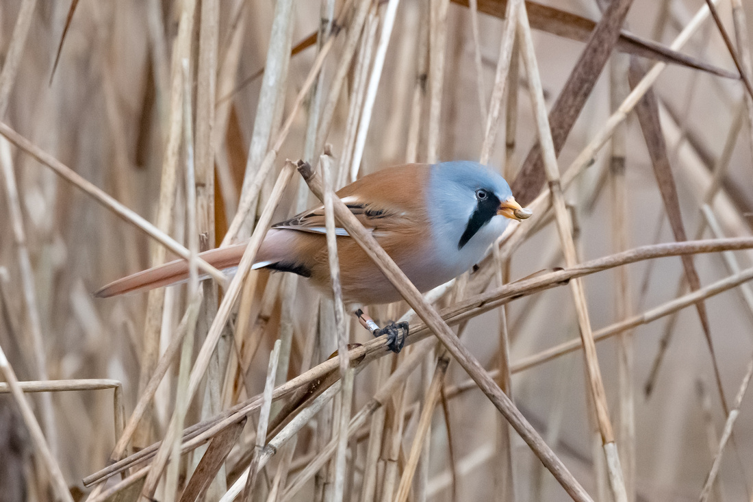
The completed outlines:
<svg viewBox="0 0 753 502">
<path fill-rule="evenodd" d="M 511 220 L 532 215 L 517 203 L 500 174 L 474 161 L 386 167 L 346 185 L 337 196 L 421 292 L 468 271 Z M 400 300 L 398 290 L 347 231 L 337 228 L 336 235 L 346 305 Z M 210 249 L 200 256 L 215 268 L 231 269 L 239 264 L 245 244 Z M 291 272 L 331 294 L 324 207 L 272 225 L 253 268 Z M 168 286 L 187 277 L 187 261 L 178 259 L 109 283 L 95 295 L 107 298 Z M 355 314 L 360 318 L 361 309 Z M 392 350 L 401 348 L 398 338 L 404 341 L 407 324 L 374 326 L 369 329 L 375 335 L 387 334 Z"/>
</svg>

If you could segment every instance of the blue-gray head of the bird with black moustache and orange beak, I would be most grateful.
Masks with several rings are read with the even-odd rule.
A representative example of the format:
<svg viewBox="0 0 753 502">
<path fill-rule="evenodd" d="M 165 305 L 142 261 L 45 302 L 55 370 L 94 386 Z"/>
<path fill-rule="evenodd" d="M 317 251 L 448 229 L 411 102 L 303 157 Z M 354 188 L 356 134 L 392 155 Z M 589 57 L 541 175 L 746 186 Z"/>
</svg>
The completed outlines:
<svg viewBox="0 0 753 502">
<path fill-rule="evenodd" d="M 427 204 L 434 237 L 448 255 L 453 247 L 468 260 L 478 260 L 505 231 L 509 219 L 530 216 L 515 201 L 508 182 L 477 162 L 435 164 L 430 184 Z"/>
</svg>

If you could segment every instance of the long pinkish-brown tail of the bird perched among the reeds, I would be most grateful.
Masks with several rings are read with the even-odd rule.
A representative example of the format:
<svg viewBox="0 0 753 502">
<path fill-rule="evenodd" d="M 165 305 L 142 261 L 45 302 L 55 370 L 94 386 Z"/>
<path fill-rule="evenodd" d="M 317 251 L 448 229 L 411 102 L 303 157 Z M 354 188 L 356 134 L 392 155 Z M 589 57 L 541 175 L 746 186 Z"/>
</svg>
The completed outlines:
<svg viewBox="0 0 753 502">
<path fill-rule="evenodd" d="M 209 265 L 220 270 L 236 267 L 243 256 L 246 243 L 233 244 L 233 246 L 209 249 L 200 253 Z M 258 265 L 264 266 L 263 263 Z M 123 277 L 107 286 L 104 286 L 94 295 L 99 298 L 108 298 L 115 295 L 137 291 L 139 289 L 153 289 L 160 286 L 169 286 L 170 284 L 179 283 L 188 278 L 188 262 L 184 259 L 178 259 L 173 262 L 149 268 L 148 270 L 137 272 L 128 277 Z"/>
</svg>

